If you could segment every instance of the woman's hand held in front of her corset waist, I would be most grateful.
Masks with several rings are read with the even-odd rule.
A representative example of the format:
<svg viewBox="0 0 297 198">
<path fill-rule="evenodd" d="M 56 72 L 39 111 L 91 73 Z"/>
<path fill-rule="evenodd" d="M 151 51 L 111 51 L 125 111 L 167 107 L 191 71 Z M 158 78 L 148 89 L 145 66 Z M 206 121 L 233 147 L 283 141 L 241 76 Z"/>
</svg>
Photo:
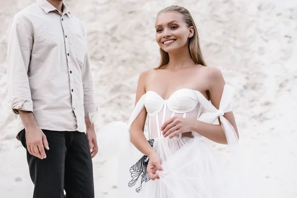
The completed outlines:
<svg viewBox="0 0 297 198">
<path fill-rule="evenodd" d="M 163 136 L 166 138 L 173 138 L 181 133 L 187 133 L 193 131 L 193 125 L 196 120 L 190 118 L 182 118 L 173 116 L 172 118 L 166 120 L 161 126 L 161 131 Z M 191 135 L 193 138 L 194 136 Z"/>
</svg>

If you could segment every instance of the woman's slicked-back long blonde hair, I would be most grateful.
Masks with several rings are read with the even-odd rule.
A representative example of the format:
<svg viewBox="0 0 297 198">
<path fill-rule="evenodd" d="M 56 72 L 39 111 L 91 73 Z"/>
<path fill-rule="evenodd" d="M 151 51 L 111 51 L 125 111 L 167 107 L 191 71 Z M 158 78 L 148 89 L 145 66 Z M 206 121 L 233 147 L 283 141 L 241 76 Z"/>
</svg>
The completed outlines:
<svg viewBox="0 0 297 198">
<path fill-rule="evenodd" d="M 178 5 L 171 5 L 169 7 L 166 7 L 165 9 L 162 9 L 161 11 L 159 11 L 159 13 L 157 14 L 157 17 L 159 16 L 159 14 L 161 14 L 163 12 L 181 13 L 184 16 L 184 20 L 187 23 L 187 26 L 194 27 L 194 35 L 193 35 L 193 37 L 191 37 L 189 39 L 190 55 L 191 55 L 192 60 L 196 64 L 201 64 L 203 66 L 206 66 L 205 61 L 202 56 L 200 45 L 199 45 L 199 37 L 198 37 L 197 27 L 195 25 L 195 22 L 193 20 L 192 15 L 189 12 L 189 10 L 184 7 L 178 6 Z M 160 48 L 160 54 L 161 54 L 160 64 L 155 69 L 160 69 L 161 67 L 168 64 L 168 62 L 169 62 L 169 54 L 166 51 L 164 51 L 163 49 Z"/>
</svg>

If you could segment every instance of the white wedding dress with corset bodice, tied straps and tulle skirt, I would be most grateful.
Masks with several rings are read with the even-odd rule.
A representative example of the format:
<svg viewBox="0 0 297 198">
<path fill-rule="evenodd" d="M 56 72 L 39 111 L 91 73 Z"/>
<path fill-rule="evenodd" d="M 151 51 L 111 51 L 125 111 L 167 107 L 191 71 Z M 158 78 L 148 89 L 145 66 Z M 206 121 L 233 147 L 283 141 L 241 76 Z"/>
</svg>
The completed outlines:
<svg viewBox="0 0 297 198">
<path fill-rule="evenodd" d="M 118 197 L 231 198 L 230 191 L 236 188 L 231 183 L 236 182 L 230 181 L 231 175 L 222 175 L 222 166 L 217 163 L 212 148 L 204 138 L 196 132 L 192 132 L 194 138 L 183 137 L 182 134 L 172 139 L 164 138 L 160 127 L 172 116 L 195 118 L 206 123 L 214 123 L 219 117 L 228 145 L 236 146 L 236 132 L 223 116 L 232 111 L 233 90 L 227 84 L 224 86 L 219 109 L 196 90 L 180 89 L 169 99 L 162 99 L 157 93 L 148 91 L 136 104 L 128 124 L 112 122 L 101 128 L 98 145 L 101 144 L 102 149 L 118 147 L 120 150 Z M 129 137 L 130 126 L 143 108 L 148 112 L 148 142 L 162 159 L 163 171 L 157 172 L 160 179 L 154 181 L 146 172 L 148 156 L 138 151 Z M 112 137 L 112 140 L 106 141 L 106 136 Z M 103 137 L 104 143 L 100 137 Z"/>
</svg>

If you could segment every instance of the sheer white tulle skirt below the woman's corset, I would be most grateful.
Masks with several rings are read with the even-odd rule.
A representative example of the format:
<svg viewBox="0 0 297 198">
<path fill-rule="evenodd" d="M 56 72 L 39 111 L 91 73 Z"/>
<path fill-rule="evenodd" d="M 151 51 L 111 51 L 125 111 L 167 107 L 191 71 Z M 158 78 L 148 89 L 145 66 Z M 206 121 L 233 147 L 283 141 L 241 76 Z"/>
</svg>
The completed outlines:
<svg viewBox="0 0 297 198">
<path fill-rule="evenodd" d="M 120 198 L 227 198 L 226 180 L 221 175 L 211 147 L 199 136 L 149 140 L 162 159 L 160 179 L 150 180 L 144 156 L 131 143 L 127 124 L 115 122 L 100 134 L 122 131 L 120 141 L 105 139 L 101 149 L 118 148 L 118 197 Z M 99 146 L 102 140 L 99 140 Z M 113 146 L 111 146 L 113 145 Z M 100 148 L 99 148 L 100 150 Z M 111 149 L 110 149 L 111 150 Z M 108 153 L 115 154 L 115 153 Z M 228 197 L 229 198 L 229 197 Z"/>
</svg>

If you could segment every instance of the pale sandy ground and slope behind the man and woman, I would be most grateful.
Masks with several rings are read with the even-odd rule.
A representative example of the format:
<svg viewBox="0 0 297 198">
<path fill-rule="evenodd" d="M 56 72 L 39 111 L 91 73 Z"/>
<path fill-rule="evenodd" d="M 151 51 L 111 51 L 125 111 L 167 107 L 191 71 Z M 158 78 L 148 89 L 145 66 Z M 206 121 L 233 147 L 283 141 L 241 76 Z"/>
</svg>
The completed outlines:
<svg viewBox="0 0 297 198">
<path fill-rule="evenodd" d="M 0 197 L 30 198 L 26 152 L 9 108 L 5 37 L 9 21 L 35 0 L 0 0 Z M 297 1 L 65 0 L 88 35 L 96 129 L 128 121 L 139 74 L 157 66 L 154 21 L 178 4 L 196 21 L 206 63 L 233 86 L 247 198 L 297 197 Z M 222 155 L 224 152 L 221 152 Z M 116 198 L 116 158 L 94 159 L 96 198 Z"/>
</svg>

